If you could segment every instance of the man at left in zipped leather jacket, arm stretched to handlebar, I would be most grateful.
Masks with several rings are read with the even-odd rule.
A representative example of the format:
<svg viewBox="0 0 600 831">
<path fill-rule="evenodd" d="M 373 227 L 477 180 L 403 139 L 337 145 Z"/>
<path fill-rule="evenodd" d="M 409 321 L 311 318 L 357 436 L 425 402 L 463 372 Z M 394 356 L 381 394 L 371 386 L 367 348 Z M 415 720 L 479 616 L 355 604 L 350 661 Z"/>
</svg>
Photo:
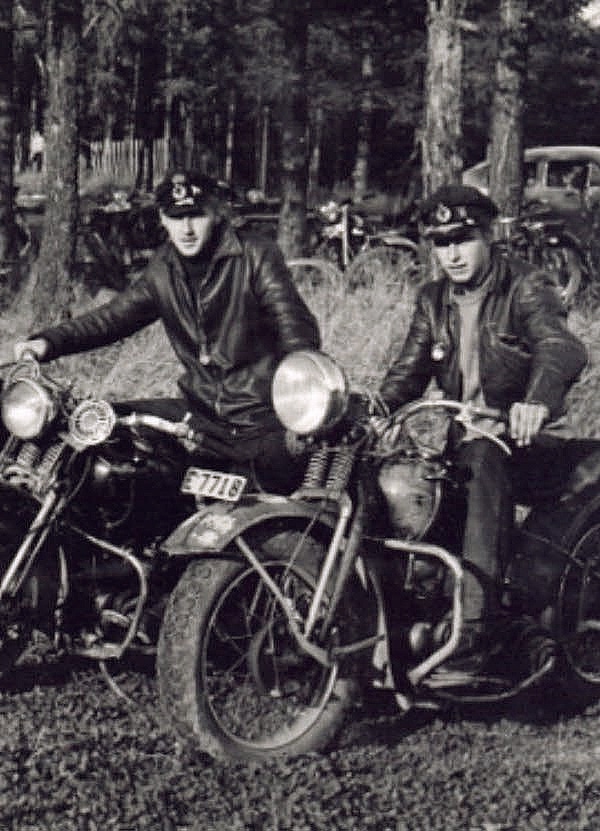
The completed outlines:
<svg viewBox="0 0 600 831">
<path fill-rule="evenodd" d="M 319 347 L 319 331 L 280 249 L 237 233 L 222 194 L 202 173 L 168 173 L 156 189 L 167 240 L 140 279 L 104 306 L 16 344 L 15 353 L 48 361 L 160 319 L 184 369 L 182 397 L 136 409 L 174 420 L 191 413 L 194 427 L 242 460 L 259 460 L 272 486 L 283 487 L 293 460 L 271 407 L 271 380 L 288 352 Z"/>
</svg>

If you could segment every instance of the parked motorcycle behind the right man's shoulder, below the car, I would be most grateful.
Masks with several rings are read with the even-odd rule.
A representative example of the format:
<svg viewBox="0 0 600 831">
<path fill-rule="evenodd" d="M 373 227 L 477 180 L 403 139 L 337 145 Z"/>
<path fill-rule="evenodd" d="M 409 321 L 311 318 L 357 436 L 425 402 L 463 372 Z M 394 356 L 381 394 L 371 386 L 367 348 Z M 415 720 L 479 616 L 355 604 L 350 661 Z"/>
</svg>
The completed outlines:
<svg viewBox="0 0 600 831">
<path fill-rule="evenodd" d="M 595 273 L 591 250 L 564 218 L 548 213 L 544 206 L 531 205 L 518 218 L 501 217 L 499 225 L 505 250 L 542 268 L 568 309 Z"/>
</svg>

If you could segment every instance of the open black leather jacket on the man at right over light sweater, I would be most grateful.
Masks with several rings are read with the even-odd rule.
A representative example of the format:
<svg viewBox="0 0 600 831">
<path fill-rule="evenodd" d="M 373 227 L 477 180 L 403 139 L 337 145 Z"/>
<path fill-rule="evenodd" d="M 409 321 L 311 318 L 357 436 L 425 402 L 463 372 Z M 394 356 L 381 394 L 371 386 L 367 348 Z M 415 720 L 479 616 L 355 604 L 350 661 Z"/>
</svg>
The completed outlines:
<svg viewBox="0 0 600 831">
<path fill-rule="evenodd" d="M 381 386 L 391 409 L 419 398 L 431 378 L 460 400 L 459 314 L 447 278 L 425 284 L 404 347 Z M 546 404 L 550 417 L 587 362 L 568 331 L 548 278 L 528 263 L 492 255 L 489 290 L 479 319 L 479 372 L 485 402 L 508 410 L 517 401 Z"/>
</svg>

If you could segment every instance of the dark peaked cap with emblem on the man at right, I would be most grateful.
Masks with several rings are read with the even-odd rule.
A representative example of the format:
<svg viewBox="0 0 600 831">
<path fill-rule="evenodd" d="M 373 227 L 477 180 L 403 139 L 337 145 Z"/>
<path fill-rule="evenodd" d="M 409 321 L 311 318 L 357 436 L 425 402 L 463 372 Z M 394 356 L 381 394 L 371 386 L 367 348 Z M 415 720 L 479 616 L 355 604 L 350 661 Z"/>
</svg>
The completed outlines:
<svg viewBox="0 0 600 831">
<path fill-rule="evenodd" d="M 498 215 L 498 208 L 477 188 L 443 185 L 423 202 L 419 213 L 423 235 L 432 236 L 462 228 L 487 228 Z"/>
</svg>

